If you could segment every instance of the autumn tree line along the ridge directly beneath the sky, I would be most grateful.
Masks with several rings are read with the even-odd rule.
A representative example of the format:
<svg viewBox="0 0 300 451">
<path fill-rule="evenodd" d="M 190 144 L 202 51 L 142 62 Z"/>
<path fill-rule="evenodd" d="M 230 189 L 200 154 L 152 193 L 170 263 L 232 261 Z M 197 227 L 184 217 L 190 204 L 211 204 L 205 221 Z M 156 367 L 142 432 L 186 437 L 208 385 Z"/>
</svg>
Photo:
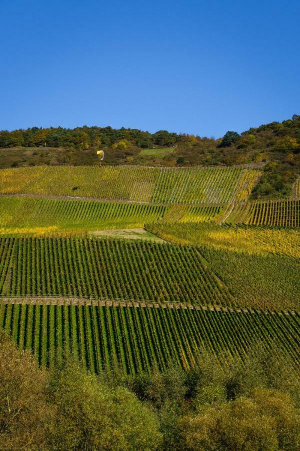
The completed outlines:
<svg viewBox="0 0 300 451">
<path fill-rule="evenodd" d="M 272 139 L 271 139 L 272 138 Z M 278 138 L 278 139 L 276 139 Z M 271 122 L 257 128 L 238 134 L 227 131 L 222 138 L 200 137 L 185 133 L 158 130 L 155 133 L 121 127 L 114 129 L 86 125 L 73 129 L 63 127 L 32 127 L 18 130 L 0 131 L 0 147 L 68 147 L 77 150 L 87 150 L 90 147 L 111 147 L 125 149 L 127 147 L 167 147 L 180 146 L 198 147 L 208 143 L 208 148 L 235 147 L 236 149 L 263 148 L 272 146 L 272 150 L 288 152 L 299 149 L 300 116 L 294 114 L 292 119 L 281 123 Z M 273 142 L 272 142 L 273 141 Z M 276 141 L 276 142 L 275 142 Z"/>
</svg>

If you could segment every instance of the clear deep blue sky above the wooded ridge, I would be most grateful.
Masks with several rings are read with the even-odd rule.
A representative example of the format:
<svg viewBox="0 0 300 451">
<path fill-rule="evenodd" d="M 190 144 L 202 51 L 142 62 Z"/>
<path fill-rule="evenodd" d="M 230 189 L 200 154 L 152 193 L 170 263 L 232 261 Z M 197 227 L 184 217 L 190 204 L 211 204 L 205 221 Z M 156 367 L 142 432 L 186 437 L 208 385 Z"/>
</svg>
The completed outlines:
<svg viewBox="0 0 300 451">
<path fill-rule="evenodd" d="M 0 129 L 282 121 L 300 114 L 299 24 L 299 0 L 0 0 Z"/>
</svg>

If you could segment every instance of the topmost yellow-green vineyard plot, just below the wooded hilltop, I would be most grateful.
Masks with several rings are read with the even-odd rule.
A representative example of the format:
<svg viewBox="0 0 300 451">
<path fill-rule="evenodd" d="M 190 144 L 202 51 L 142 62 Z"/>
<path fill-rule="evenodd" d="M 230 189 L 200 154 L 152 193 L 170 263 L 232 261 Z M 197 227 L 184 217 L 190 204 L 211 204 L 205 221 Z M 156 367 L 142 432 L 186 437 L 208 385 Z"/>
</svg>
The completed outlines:
<svg viewBox="0 0 300 451">
<path fill-rule="evenodd" d="M 0 170 L 1 193 L 152 203 L 227 203 L 248 197 L 259 174 L 242 167 L 40 166 Z"/>
</svg>

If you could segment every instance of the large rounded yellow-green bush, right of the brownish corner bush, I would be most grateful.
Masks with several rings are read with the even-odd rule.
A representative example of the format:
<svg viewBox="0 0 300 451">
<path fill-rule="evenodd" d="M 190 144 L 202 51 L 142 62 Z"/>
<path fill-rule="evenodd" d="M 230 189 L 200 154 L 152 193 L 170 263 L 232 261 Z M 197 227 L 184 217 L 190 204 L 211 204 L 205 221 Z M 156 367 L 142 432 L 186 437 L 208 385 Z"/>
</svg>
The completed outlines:
<svg viewBox="0 0 300 451">
<path fill-rule="evenodd" d="M 50 449 L 156 449 L 158 421 L 124 387 L 109 388 L 94 375 L 68 364 L 55 371 L 48 400 L 56 409 Z"/>
</svg>

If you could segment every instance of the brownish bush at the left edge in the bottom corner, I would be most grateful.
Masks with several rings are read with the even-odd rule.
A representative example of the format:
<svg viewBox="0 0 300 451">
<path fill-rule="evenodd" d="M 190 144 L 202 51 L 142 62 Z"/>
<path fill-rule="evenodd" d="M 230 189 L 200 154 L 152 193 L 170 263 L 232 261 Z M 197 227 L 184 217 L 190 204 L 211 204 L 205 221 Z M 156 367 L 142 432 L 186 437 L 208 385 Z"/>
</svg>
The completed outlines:
<svg viewBox="0 0 300 451">
<path fill-rule="evenodd" d="M 45 400 L 47 374 L 32 355 L 0 333 L 0 444 L 2 449 L 44 449 L 53 413 Z"/>
</svg>

